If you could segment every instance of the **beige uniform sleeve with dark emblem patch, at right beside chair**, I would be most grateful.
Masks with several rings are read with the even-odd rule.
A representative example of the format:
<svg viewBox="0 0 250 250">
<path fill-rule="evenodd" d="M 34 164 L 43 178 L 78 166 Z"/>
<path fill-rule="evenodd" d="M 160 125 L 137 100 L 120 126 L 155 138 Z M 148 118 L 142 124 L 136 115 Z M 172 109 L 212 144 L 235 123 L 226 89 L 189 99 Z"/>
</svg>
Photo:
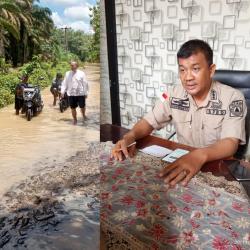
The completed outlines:
<svg viewBox="0 0 250 250">
<path fill-rule="evenodd" d="M 245 118 L 247 114 L 246 101 L 243 94 L 235 91 L 226 116 L 222 123 L 221 139 L 236 138 L 240 140 L 240 144 L 246 144 Z"/>
</svg>

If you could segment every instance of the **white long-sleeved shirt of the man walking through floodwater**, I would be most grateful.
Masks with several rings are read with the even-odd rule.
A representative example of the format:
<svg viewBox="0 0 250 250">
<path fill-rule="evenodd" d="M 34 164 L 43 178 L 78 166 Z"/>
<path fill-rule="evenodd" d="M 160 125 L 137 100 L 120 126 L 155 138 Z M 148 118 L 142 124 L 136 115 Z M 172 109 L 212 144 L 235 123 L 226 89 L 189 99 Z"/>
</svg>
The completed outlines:
<svg viewBox="0 0 250 250">
<path fill-rule="evenodd" d="M 62 82 L 61 94 L 67 91 L 68 96 L 86 96 L 88 95 L 89 85 L 85 73 L 81 70 L 76 72 L 68 71 Z"/>
</svg>

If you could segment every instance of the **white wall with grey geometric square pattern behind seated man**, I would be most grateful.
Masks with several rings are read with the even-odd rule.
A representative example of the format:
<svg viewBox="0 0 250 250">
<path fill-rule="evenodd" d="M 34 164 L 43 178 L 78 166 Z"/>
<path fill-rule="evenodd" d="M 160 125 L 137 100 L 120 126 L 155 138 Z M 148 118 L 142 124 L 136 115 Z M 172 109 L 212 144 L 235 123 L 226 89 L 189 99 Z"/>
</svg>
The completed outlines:
<svg viewBox="0 0 250 250">
<path fill-rule="evenodd" d="M 250 70 L 250 1 L 117 0 L 116 24 L 124 127 L 180 84 L 176 53 L 189 39 L 210 44 L 217 69 Z M 157 133 L 171 132 L 169 125 Z"/>
</svg>

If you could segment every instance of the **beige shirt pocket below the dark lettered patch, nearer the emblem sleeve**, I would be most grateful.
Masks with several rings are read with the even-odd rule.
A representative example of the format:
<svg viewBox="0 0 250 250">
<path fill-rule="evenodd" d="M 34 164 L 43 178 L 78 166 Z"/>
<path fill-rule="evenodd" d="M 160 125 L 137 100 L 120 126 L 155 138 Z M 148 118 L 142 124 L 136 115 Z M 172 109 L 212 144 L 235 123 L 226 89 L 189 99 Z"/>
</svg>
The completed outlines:
<svg viewBox="0 0 250 250">
<path fill-rule="evenodd" d="M 202 121 L 203 145 L 209 146 L 220 140 L 224 116 L 206 115 Z"/>
</svg>

